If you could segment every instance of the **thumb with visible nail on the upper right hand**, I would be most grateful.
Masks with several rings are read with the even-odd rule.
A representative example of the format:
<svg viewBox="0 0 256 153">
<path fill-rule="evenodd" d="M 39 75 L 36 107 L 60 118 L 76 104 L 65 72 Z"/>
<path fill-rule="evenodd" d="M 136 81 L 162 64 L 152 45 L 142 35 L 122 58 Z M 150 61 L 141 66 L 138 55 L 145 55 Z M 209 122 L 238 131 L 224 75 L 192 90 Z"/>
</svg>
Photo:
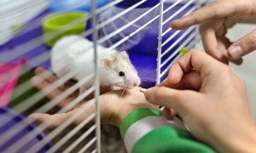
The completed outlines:
<svg viewBox="0 0 256 153">
<path fill-rule="evenodd" d="M 251 53 L 256 49 L 256 31 L 248 33 L 241 37 L 228 48 L 228 56 L 230 59 L 241 59 L 245 54 Z"/>
</svg>

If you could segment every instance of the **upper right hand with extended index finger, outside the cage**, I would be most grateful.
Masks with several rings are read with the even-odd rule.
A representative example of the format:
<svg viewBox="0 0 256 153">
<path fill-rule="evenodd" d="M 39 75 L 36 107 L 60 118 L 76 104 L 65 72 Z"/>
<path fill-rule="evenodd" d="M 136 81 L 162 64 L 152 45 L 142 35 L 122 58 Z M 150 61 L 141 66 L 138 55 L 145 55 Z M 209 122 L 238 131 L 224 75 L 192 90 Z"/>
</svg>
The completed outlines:
<svg viewBox="0 0 256 153">
<path fill-rule="evenodd" d="M 172 21 L 171 26 L 181 30 L 201 24 L 201 40 L 207 54 L 226 64 L 231 60 L 241 65 L 241 57 L 256 49 L 256 31 L 235 42 L 230 42 L 225 35 L 236 23 L 256 23 L 255 6 L 255 0 L 222 0 Z"/>
</svg>

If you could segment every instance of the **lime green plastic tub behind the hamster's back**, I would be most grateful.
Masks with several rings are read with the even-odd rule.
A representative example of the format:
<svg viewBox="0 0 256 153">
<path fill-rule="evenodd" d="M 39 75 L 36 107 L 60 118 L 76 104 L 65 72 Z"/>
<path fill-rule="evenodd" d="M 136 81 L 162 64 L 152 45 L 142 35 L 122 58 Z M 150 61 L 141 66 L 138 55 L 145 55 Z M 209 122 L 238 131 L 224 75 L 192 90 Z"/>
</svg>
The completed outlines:
<svg viewBox="0 0 256 153">
<path fill-rule="evenodd" d="M 87 19 L 86 12 L 47 15 L 43 19 L 44 44 L 53 47 L 61 37 L 83 34 Z"/>
</svg>

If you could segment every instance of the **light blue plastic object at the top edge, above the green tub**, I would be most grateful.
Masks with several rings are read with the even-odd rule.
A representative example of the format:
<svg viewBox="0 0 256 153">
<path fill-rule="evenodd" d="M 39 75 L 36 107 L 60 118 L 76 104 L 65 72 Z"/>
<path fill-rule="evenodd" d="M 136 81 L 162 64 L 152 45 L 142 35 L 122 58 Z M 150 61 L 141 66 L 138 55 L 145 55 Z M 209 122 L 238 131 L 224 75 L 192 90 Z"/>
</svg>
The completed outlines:
<svg viewBox="0 0 256 153">
<path fill-rule="evenodd" d="M 109 3 L 111 0 L 96 0 L 97 7 Z M 81 6 L 82 5 L 82 6 Z M 79 11 L 90 11 L 91 4 L 90 0 L 50 0 L 49 9 L 51 11 L 62 11 L 62 10 L 79 10 Z"/>
</svg>

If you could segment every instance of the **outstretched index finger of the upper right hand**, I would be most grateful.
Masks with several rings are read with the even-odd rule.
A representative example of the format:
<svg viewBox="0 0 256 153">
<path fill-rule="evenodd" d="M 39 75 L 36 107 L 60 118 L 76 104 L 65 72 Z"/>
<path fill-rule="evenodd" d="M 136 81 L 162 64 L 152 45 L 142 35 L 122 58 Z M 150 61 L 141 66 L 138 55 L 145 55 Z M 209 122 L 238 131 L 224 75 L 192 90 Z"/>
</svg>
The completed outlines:
<svg viewBox="0 0 256 153">
<path fill-rule="evenodd" d="M 188 28 L 189 26 L 201 24 L 207 20 L 220 19 L 229 16 L 244 16 L 252 13 L 252 5 L 244 0 L 233 1 L 224 0 L 216 3 L 208 4 L 207 6 L 200 8 L 184 16 L 179 20 L 172 21 L 172 28 L 181 30 Z"/>
</svg>

